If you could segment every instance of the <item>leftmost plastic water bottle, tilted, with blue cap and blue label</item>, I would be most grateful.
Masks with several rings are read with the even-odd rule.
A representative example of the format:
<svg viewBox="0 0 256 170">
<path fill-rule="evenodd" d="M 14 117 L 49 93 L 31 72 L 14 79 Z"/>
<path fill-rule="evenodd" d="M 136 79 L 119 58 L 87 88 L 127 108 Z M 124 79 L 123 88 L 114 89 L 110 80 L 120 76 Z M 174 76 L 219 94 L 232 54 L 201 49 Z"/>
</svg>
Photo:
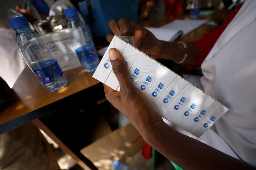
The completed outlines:
<svg viewBox="0 0 256 170">
<path fill-rule="evenodd" d="M 17 43 L 24 60 L 34 72 L 42 86 L 50 91 L 58 91 L 68 84 L 57 60 L 45 45 L 43 39 L 30 29 L 25 17 L 8 19 L 16 31 Z"/>
</svg>

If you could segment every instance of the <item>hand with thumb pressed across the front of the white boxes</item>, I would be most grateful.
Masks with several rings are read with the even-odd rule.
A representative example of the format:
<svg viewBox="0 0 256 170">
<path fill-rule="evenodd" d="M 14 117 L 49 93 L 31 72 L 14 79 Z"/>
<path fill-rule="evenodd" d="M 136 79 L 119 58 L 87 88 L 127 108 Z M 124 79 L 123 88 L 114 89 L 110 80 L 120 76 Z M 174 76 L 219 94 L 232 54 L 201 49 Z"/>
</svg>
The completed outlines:
<svg viewBox="0 0 256 170">
<path fill-rule="evenodd" d="M 163 120 L 162 116 L 154 110 L 143 93 L 133 85 L 124 58 L 119 51 L 111 48 L 108 53 L 113 72 L 120 84 L 120 91 L 113 90 L 104 84 L 106 98 L 124 114 L 143 137 L 146 129 Z"/>
</svg>

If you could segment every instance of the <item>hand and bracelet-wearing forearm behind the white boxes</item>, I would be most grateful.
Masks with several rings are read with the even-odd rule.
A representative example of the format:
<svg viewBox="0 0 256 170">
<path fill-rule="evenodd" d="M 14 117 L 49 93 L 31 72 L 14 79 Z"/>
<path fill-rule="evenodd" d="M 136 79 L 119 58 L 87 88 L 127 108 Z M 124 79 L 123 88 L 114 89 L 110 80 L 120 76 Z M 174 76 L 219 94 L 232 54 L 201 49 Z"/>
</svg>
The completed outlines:
<svg viewBox="0 0 256 170">
<path fill-rule="evenodd" d="M 184 48 L 180 43 L 161 41 L 143 26 L 126 18 L 121 18 L 119 21 L 110 19 L 108 26 L 117 36 L 130 36 L 133 46 L 154 59 L 180 61 L 187 53 L 185 63 L 194 64 L 197 60 L 198 47 L 192 42 L 187 43 L 187 48 Z M 114 34 L 107 35 L 108 42 L 111 42 Z"/>
</svg>

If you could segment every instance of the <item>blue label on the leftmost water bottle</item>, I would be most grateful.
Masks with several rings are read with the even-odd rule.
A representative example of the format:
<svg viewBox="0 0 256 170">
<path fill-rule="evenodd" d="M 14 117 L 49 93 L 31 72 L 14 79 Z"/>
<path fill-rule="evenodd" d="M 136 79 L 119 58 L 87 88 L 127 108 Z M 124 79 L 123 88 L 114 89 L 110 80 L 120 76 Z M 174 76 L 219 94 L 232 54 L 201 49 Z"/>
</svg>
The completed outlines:
<svg viewBox="0 0 256 170">
<path fill-rule="evenodd" d="M 55 77 L 63 75 L 57 60 L 43 61 L 32 67 L 32 71 L 41 83 L 51 83 L 55 81 Z"/>
</svg>

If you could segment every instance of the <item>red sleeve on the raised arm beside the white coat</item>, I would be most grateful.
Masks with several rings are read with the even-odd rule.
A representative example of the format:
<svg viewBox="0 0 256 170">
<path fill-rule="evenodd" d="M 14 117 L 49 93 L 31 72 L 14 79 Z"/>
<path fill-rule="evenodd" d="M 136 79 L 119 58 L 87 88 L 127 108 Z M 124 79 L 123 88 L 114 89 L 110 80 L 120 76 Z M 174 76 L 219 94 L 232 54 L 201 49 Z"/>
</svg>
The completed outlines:
<svg viewBox="0 0 256 170">
<path fill-rule="evenodd" d="M 236 13 L 239 11 L 241 6 L 242 6 L 242 4 L 237 7 L 236 11 L 231 11 L 228 14 L 228 16 L 225 18 L 225 20 L 223 21 L 222 25 L 219 28 L 216 28 L 216 29 L 214 29 L 212 31 L 209 31 L 206 34 L 204 34 L 203 39 L 192 41 L 197 45 L 197 47 L 199 49 L 199 56 L 198 56 L 197 61 L 196 61 L 195 64 L 193 64 L 193 65 L 187 64 L 188 70 L 192 69 L 192 68 L 195 68 L 195 67 L 198 67 L 198 66 L 201 66 L 204 59 L 206 58 L 206 56 L 208 55 L 208 53 L 212 49 L 213 45 L 215 44 L 217 39 L 220 37 L 221 33 L 225 30 L 225 28 L 228 26 L 228 24 L 236 16 Z"/>
</svg>

